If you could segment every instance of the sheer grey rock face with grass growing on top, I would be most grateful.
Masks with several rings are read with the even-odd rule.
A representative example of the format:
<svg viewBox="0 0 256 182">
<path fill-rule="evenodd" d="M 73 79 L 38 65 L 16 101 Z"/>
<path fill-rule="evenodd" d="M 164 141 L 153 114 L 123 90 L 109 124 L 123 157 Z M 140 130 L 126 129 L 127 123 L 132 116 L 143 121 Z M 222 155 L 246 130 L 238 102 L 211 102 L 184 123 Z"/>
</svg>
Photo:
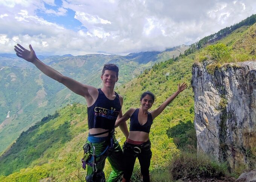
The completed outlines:
<svg viewBox="0 0 256 182">
<path fill-rule="evenodd" d="M 197 152 L 228 161 L 234 170 L 256 155 L 256 62 L 231 63 L 215 70 L 193 65 Z"/>
</svg>

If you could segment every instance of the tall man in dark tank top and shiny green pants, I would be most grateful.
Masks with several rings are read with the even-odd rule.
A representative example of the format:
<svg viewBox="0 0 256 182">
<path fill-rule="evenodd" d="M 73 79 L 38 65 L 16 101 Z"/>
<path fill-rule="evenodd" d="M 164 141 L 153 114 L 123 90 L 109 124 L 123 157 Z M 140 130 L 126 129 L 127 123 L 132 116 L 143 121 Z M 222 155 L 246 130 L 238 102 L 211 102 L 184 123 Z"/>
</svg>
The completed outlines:
<svg viewBox="0 0 256 182">
<path fill-rule="evenodd" d="M 97 156 L 94 161 L 88 161 L 93 158 L 91 155 L 86 160 L 86 163 L 89 164 L 87 176 L 94 174 L 96 171 L 102 171 L 105 165 L 105 159 L 108 156 L 108 161 L 113 168 L 108 181 L 117 181 L 122 175 L 123 169 L 122 149 L 113 133 L 116 119 L 122 117 L 123 104 L 122 96 L 114 92 L 114 86 L 118 80 L 118 67 L 114 64 L 104 65 L 101 75 L 103 86 L 101 89 L 96 89 L 93 86 L 82 84 L 72 78 L 66 77 L 41 62 L 31 45 L 29 45 L 30 51 L 26 50 L 20 44 L 14 47 L 18 57 L 33 63 L 48 77 L 64 84 L 72 92 L 85 98 L 88 110 L 89 137 L 87 147 L 84 147 L 84 150 L 86 148 L 88 150 L 87 153 L 94 153 Z M 120 129 L 127 138 L 129 132 L 126 123 L 120 126 Z M 110 149 L 114 150 L 110 151 Z"/>
</svg>

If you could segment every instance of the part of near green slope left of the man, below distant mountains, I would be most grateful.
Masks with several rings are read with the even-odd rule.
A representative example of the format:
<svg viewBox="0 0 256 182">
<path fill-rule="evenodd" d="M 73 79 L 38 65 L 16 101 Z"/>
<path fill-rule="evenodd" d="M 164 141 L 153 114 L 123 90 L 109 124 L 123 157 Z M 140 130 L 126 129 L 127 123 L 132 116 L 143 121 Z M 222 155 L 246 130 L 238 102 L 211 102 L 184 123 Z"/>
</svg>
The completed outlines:
<svg viewBox="0 0 256 182">
<path fill-rule="evenodd" d="M 9 179 L 17 181 L 37 181 L 43 170 L 47 175 L 63 174 L 63 180 L 70 172 L 80 167 L 82 145 L 85 142 L 85 132 L 88 127 L 85 105 L 69 105 L 55 114 L 44 117 L 35 126 L 22 132 L 12 147 L 0 157 L 1 174 L 14 173 Z M 77 158 L 79 156 L 79 158 Z M 40 167 L 37 167 L 40 166 Z M 34 176 L 26 180 L 26 175 L 34 169 Z M 66 175 L 65 175 L 66 174 Z M 8 181 L 8 180 L 7 180 Z"/>
</svg>

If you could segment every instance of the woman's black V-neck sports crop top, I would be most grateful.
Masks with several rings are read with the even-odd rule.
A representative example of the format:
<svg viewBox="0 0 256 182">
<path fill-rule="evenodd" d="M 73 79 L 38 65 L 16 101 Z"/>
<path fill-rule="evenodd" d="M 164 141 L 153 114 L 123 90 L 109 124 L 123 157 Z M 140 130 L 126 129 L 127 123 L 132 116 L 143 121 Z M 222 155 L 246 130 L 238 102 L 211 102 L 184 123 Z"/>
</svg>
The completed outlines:
<svg viewBox="0 0 256 182">
<path fill-rule="evenodd" d="M 130 118 L 130 131 L 144 131 L 146 133 L 149 133 L 151 125 L 153 123 L 151 113 L 148 112 L 148 120 L 144 125 L 140 125 L 138 115 L 139 109 L 137 108 Z"/>
</svg>

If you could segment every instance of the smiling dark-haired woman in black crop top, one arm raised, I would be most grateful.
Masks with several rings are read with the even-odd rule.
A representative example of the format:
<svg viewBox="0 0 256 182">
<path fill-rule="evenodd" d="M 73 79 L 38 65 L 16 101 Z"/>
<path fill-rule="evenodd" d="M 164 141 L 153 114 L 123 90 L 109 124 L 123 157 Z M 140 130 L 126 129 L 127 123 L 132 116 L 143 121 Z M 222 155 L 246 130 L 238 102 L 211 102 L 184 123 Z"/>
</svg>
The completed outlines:
<svg viewBox="0 0 256 182">
<path fill-rule="evenodd" d="M 140 170 L 142 174 L 143 182 L 149 181 L 149 165 L 152 152 L 150 150 L 150 141 L 149 141 L 149 131 L 152 125 L 153 120 L 157 117 L 166 106 L 173 100 L 175 97 L 186 89 L 187 84 L 178 84 L 178 90 L 168 99 L 166 99 L 163 104 L 161 104 L 154 111 L 148 112 L 154 103 L 155 96 L 153 93 L 147 91 L 144 92 L 140 98 L 141 107 L 140 108 L 131 108 L 129 109 L 123 117 L 116 121 L 115 127 L 119 126 L 126 120 L 130 119 L 130 133 L 125 141 L 123 146 L 124 153 L 124 162 L 125 170 L 123 174 L 123 182 L 130 182 L 131 175 L 133 173 L 133 167 L 138 157 L 140 162 Z"/>
</svg>

